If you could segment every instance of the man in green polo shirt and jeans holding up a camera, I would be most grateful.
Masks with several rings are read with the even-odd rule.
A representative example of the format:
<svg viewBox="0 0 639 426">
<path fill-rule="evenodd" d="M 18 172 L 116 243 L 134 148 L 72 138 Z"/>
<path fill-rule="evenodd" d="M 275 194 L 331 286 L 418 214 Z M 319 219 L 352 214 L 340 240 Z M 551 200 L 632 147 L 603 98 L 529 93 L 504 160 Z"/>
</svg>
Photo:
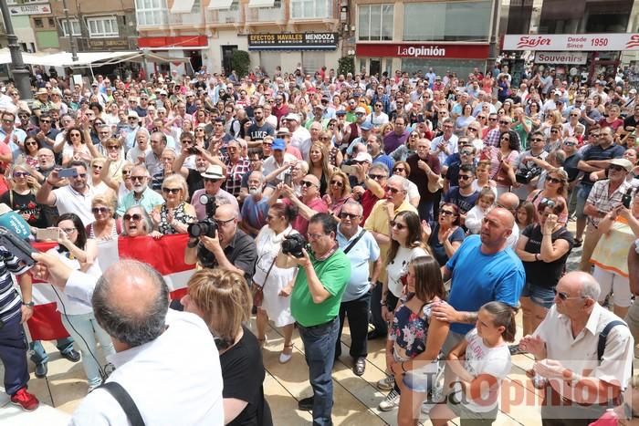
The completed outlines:
<svg viewBox="0 0 639 426">
<path fill-rule="evenodd" d="M 299 401 L 300 410 L 313 410 L 313 424 L 331 425 L 333 381 L 330 376 L 340 331 L 341 296 L 351 279 L 351 264 L 336 240 L 337 221 L 328 213 L 309 220 L 311 253 L 289 257 L 299 266 L 290 295 L 290 312 L 304 342 L 313 396 Z"/>
</svg>

